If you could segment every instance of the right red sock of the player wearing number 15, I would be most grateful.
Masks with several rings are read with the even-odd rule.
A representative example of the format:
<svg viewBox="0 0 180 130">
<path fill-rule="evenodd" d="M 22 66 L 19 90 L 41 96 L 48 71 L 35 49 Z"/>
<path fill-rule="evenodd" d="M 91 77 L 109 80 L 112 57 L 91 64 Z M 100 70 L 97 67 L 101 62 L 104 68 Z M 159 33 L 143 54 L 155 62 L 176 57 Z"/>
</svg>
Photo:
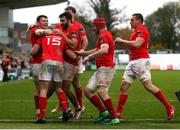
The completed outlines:
<svg viewBox="0 0 180 130">
<path fill-rule="evenodd" d="M 57 96 L 58 96 L 58 100 L 61 105 L 61 108 L 63 109 L 63 111 L 65 111 L 68 108 L 68 102 L 67 102 L 65 92 L 61 91 L 57 94 Z"/>
</svg>

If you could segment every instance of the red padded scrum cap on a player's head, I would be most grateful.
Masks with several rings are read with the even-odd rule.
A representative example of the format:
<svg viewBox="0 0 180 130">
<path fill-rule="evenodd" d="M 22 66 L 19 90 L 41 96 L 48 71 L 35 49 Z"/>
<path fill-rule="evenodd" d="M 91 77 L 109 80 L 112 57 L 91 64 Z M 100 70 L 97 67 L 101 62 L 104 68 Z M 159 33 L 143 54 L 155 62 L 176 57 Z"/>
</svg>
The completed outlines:
<svg viewBox="0 0 180 130">
<path fill-rule="evenodd" d="M 106 27 L 106 20 L 103 17 L 99 17 L 93 21 L 93 24 L 99 30 Z"/>
</svg>

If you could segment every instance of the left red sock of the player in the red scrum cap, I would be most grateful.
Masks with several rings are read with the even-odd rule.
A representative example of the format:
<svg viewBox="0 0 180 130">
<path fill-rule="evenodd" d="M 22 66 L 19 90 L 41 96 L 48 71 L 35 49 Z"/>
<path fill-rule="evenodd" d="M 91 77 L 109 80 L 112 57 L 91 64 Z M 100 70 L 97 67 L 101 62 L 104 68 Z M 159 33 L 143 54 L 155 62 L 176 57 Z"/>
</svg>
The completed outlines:
<svg viewBox="0 0 180 130">
<path fill-rule="evenodd" d="M 100 112 L 104 112 L 106 110 L 101 100 L 96 95 L 92 96 L 90 101 L 96 108 L 99 109 Z"/>
</svg>

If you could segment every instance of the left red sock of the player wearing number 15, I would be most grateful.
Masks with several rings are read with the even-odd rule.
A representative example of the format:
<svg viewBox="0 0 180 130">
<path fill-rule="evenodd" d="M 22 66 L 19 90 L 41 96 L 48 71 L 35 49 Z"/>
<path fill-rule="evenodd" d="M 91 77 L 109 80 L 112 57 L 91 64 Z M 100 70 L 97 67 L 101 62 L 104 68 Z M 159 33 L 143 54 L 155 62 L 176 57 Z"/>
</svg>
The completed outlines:
<svg viewBox="0 0 180 130">
<path fill-rule="evenodd" d="M 38 115 L 38 118 L 45 118 L 46 106 L 47 106 L 47 98 L 39 97 L 40 114 Z"/>
</svg>

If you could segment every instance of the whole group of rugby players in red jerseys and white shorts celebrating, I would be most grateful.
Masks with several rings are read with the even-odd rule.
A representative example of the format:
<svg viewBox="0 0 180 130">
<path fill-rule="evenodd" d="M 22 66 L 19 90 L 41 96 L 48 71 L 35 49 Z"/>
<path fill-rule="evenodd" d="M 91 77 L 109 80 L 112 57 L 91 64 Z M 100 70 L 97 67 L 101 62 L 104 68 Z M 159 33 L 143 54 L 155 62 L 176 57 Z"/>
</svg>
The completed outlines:
<svg viewBox="0 0 180 130">
<path fill-rule="evenodd" d="M 174 106 L 165 98 L 161 90 L 151 82 L 148 54 L 149 31 L 143 25 L 143 16 L 133 14 L 130 24 L 134 29 L 130 41 L 117 37 L 115 40 L 106 28 L 106 20 L 98 17 L 93 21 L 92 30 L 97 33 L 94 49 L 86 50 L 88 40 L 82 24 L 75 21 L 76 9 L 65 8 L 59 15 L 60 23 L 54 29 L 48 28 L 48 17 L 39 15 L 36 25 L 28 29 L 32 42 L 31 65 L 35 83 L 34 103 L 36 123 L 46 123 L 47 99 L 56 92 L 58 105 L 53 112 L 61 109 L 62 120 L 80 119 L 85 107 L 83 92 L 89 101 L 99 110 L 95 123 L 119 124 L 122 110 L 128 99 L 128 88 L 138 78 L 145 89 L 159 99 L 167 109 L 167 119 L 174 117 Z M 114 46 L 119 44 L 130 49 L 130 62 L 121 82 L 118 106 L 114 108 L 108 95 L 108 89 L 115 75 Z M 82 89 L 79 80 L 82 63 L 95 59 L 97 70 Z M 71 85 L 74 92 L 71 91 Z M 67 98 L 74 107 L 72 112 Z"/>
</svg>

